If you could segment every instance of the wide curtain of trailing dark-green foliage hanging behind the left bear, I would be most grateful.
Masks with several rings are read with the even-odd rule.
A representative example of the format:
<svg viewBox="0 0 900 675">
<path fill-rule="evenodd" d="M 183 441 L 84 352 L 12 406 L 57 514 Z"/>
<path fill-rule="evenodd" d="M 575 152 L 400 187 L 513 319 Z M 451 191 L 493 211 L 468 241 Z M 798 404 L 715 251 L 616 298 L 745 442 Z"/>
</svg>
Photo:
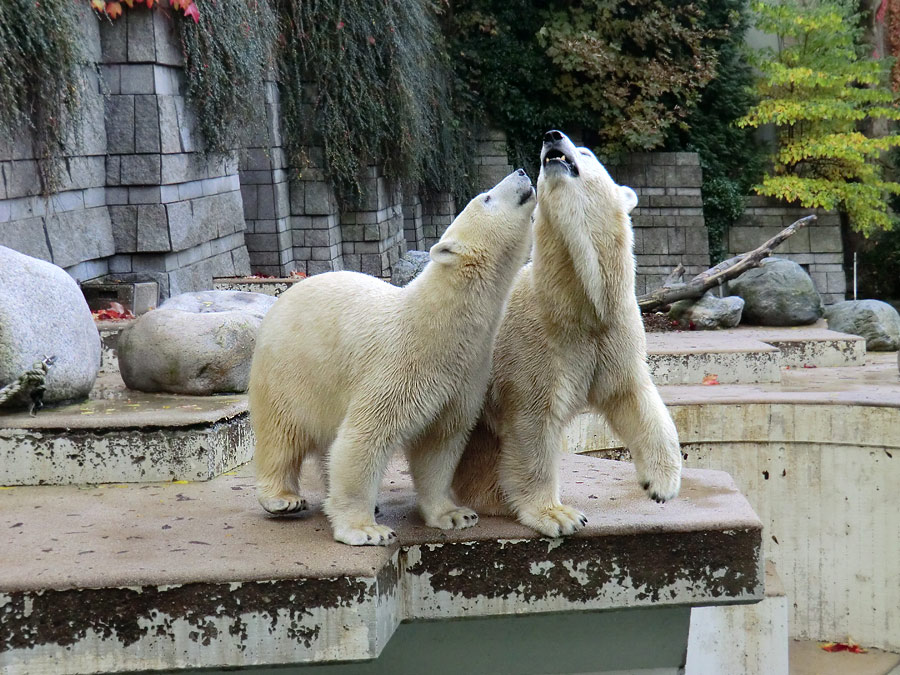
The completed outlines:
<svg viewBox="0 0 900 675">
<path fill-rule="evenodd" d="M 407 184 L 469 190 L 473 146 L 427 0 L 278 0 L 283 128 L 292 166 L 322 162 L 342 200 L 368 162 Z M 320 146 L 322 158 L 306 155 Z"/>
</svg>

